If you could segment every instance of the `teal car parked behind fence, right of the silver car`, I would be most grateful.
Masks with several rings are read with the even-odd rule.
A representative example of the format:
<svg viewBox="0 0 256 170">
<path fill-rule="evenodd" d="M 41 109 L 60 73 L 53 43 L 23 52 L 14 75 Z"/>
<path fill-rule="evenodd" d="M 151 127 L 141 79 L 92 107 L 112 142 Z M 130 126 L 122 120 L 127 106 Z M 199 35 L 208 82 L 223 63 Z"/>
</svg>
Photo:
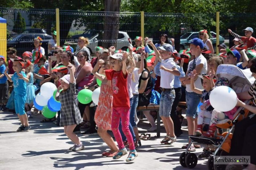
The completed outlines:
<svg viewBox="0 0 256 170">
<path fill-rule="evenodd" d="M 213 49 L 214 49 L 214 51 L 216 51 L 216 33 L 211 31 L 210 34 L 211 35 L 209 35 L 209 36 L 212 36 L 212 37 L 210 37 L 210 39 L 212 41 Z M 181 40 L 180 40 L 181 50 L 187 49 L 188 48 L 187 43 L 190 43 L 190 41 L 193 38 L 199 38 L 198 32 L 187 32 L 187 33 L 183 34 L 181 36 Z M 219 44 L 222 44 L 222 43 L 224 43 L 224 38 L 219 35 Z"/>
</svg>

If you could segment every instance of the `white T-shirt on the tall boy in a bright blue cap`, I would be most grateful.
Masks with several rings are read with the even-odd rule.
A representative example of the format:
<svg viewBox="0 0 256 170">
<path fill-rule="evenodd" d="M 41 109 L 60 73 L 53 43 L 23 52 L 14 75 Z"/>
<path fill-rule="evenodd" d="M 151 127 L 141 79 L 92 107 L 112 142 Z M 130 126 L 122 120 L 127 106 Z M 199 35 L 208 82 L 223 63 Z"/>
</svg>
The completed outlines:
<svg viewBox="0 0 256 170">
<path fill-rule="evenodd" d="M 198 75 L 202 75 L 202 74 L 207 73 L 207 60 L 206 60 L 206 58 L 204 58 L 204 56 L 202 54 L 200 54 L 194 60 L 196 60 L 196 66 L 199 65 L 199 64 L 203 64 L 203 68 L 202 68 L 200 74 L 198 74 Z M 188 63 L 188 70 L 189 70 L 190 67 L 193 67 L 194 60 L 192 60 Z M 199 77 L 195 81 L 195 87 L 198 88 L 198 89 L 203 89 L 203 85 L 202 85 L 201 79 Z M 186 84 L 186 91 L 187 92 L 193 92 L 190 88 L 190 84 Z"/>
</svg>

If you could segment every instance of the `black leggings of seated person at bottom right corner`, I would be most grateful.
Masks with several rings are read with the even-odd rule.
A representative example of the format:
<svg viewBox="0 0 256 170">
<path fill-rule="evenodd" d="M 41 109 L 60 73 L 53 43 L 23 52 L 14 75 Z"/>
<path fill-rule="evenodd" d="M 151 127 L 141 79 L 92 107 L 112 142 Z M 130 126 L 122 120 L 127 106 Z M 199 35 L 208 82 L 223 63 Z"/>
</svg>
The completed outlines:
<svg viewBox="0 0 256 170">
<path fill-rule="evenodd" d="M 252 117 L 253 116 L 253 117 Z M 230 156 L 251 156 L 256 165 L 256 115 L 248 116 L 237 123 L 231 140 Z"/>
</svg>

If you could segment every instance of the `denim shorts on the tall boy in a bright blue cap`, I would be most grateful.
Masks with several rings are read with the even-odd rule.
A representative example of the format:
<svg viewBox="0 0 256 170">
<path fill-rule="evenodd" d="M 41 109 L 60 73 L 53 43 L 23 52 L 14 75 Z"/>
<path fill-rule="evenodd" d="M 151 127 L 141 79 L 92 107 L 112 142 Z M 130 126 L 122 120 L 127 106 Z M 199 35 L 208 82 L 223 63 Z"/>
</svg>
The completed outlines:
<svg viewBox="0 0 256 170">
<path fill-rule="evenodd" d="M 195 92 L 186 91 L 186 103 L 187 103 L 187 112 L 186 117 L 192 117 L 195 119 L 198 115 L 197 106 L 200 103 L 202 95 L 199 95 Z"/>
</svg>

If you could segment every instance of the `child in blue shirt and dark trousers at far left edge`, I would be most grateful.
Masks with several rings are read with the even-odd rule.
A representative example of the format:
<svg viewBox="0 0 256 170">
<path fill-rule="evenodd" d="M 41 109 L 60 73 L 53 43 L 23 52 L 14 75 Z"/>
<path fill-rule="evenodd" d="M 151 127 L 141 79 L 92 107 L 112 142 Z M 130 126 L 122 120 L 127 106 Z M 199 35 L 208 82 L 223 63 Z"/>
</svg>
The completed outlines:
<svg viewBox="0 0 256 170">
<path fill-rule="evenodd" d="M 6 111 L 6 102 L 8 100 L 8 82 L 7 78 L 4 75 L 5 71 L 5 58 L 4 56 L 0 55 L 0 111 Z"/>
</svg>

